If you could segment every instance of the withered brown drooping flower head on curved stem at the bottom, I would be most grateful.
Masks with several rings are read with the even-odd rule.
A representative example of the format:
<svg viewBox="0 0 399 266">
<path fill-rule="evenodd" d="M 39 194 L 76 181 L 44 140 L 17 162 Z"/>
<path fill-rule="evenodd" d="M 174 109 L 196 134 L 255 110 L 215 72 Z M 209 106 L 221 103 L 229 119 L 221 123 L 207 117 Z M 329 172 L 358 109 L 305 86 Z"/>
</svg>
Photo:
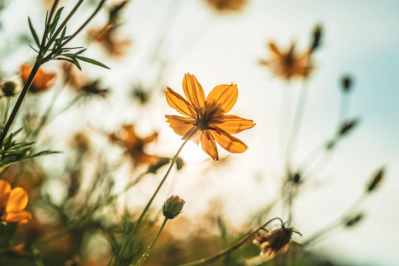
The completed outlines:
<svg viewBox="0 0 399 266">
<path fill-rule="evenodd" d="M 278 252 L 285 253 L 288 251 L 292 232 L 300 234 L 294 231 L 293 228 L 286 228 L 284 224 L 271 232 L 266 229 L 263 230 L 265 230 L 266 234 L 258 231 L 253 243 L 261 246 L 261 255 L 267 253 L 269 258 L 273 258 Z"/>
</svg>

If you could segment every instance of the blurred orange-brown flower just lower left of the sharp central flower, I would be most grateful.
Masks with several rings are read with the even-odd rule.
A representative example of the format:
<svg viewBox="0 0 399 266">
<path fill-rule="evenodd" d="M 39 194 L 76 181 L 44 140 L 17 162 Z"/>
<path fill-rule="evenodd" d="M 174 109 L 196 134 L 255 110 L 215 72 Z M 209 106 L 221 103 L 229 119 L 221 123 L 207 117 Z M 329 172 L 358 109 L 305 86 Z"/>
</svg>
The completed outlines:
<svg viewBox="0 0 399 266">
<path fill-rule="evenodd" d="M 118 135 L 119 136 L 111 134 L 109 137 L 112 141 L 120 143 L 122 146 L 126 147 L 130 156 L 137 163 L 150 164 L 154 163 L 158 159 L 158 157 L 154 155 L 148 155 L 143 151 L 146 144 L 154 141 L 158 137 L 157 133 L 149 135 L 145 138 L 140 138 L 134 132 L 133 125 L 125 125 L 122 129 L 122 132 L 120 132 Z"/>
</svg>

